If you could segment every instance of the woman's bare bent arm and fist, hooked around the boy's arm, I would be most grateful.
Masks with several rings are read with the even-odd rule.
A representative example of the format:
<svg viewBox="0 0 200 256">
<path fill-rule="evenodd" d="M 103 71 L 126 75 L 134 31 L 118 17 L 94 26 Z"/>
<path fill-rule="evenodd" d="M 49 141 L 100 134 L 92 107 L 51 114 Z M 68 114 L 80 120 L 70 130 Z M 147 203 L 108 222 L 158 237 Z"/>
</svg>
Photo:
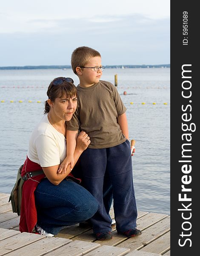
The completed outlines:
<svg viewBox="0 0 200 256">
<path fill-rule="evenodd" d="M 81 131 L 79 136 L 77 137 L 77 145 L 76 145 L 76 148 L 75 148 L 75 151 L 74 151 L 74 164 L 77 162 L 80 155 L 89 146 L 89 144 L 91 142 L 90 140 L 87 139 L 87 137 L 88 137 L 88 134 L 86 134 L 84 131 Z M 42 167 L 46 177 L 54 185 L 58 185 L 71 172 L 70 166 L 67 166 L 66 173 L 61 173 L 60 174 L 60 173 L 57 172 L 59 166 L 60 165 Z"/>
</svg>

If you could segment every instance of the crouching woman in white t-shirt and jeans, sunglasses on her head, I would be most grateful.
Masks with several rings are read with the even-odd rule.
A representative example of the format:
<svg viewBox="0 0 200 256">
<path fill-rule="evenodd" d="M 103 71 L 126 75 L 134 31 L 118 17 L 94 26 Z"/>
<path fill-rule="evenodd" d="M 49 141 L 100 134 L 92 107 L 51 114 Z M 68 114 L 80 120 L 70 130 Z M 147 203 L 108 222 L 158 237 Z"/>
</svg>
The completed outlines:
<svg viewBox="0 0 200 256">
<path fill-rule="evenodd" d="M 45 236 L 56 235 L 63 227 L 91 218 L 98 209 L 96 199 L 82 186 L 58 173 L 66 157 L 66 121 L 77 107 L 77 90 L 71 78 L 58 77 L 51 81 L 45 102 L 44 116 L 35 127 L 22 169 L 29 179 L 23 184 L 20 231 Z M 74 151 L 74 163 L 90 143 L 80 132 Z M 34 172 L 43 169 L 43 174 Z M 73 180 L 77 180 L 73 178 Z M 77 180 L 79 181 L 79 180 Z"/>
</svg>

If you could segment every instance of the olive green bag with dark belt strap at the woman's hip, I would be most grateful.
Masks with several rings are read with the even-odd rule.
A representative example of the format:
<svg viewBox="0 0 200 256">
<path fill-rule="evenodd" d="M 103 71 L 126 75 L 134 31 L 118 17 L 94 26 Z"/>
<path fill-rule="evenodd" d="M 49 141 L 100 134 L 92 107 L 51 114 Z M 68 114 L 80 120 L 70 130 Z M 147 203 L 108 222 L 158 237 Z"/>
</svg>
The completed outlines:
<svg viewBox="0 0 200 256">
<path fill-rule="evenodd" d="M 17 180 L 14 184 L 14 187 L 10 193 L 9 202 L 11 201 L 12 211 L 17 212 L 17 215 L 20 215 L 21 210 L 21 201 L 22 201 L 22 187 L 24 181 L 28 180 L 31 177 L 36 175 L 43 174 L 43 170 L 37 172 L 27 172 L 23 177 L 21 176 L 23 165 L 20 166 L 17 172 Z"/>
</svg>

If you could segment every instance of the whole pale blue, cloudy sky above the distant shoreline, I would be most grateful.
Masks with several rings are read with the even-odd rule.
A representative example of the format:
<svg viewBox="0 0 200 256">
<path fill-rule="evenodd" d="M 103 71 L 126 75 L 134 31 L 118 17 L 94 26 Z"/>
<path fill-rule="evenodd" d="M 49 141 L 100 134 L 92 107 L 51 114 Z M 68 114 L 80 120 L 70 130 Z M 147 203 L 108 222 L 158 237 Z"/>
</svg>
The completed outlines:
<svg viewBox="0 0 200 256">
<path fill-rule="evenodd" d="M 0 67 L 70 65 L 80 46 L 103 65 L 170 64 L 170 0 L 0 3 Z"/>
</svg>

